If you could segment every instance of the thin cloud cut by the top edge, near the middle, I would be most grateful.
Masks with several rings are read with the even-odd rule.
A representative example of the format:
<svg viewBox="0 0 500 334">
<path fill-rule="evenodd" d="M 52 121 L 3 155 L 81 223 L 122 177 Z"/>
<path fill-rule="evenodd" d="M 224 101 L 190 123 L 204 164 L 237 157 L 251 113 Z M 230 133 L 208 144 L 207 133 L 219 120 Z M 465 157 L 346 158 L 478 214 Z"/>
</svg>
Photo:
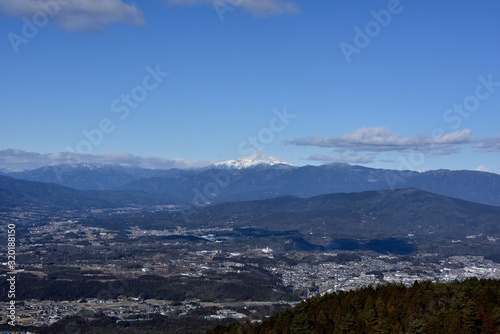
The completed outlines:
<svg viewBox="0 0 500 334">
<path fill-rule="evenodd" d="M 235 8 L 242 8 L 256 16 L 281 15 L 299 12 L 299 6 L 289 0 L 220 0 Z M 166 0 L 171 5 L 192 6 L 198 4 L 213 5 L 214 0 Z"/>
</svg>

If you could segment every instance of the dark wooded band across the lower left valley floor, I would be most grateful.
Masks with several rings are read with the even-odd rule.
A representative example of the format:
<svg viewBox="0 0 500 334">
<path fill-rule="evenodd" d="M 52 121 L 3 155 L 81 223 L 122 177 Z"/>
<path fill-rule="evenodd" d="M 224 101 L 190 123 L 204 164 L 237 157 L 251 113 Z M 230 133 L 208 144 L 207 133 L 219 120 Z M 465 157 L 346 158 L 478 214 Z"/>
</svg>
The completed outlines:
<svg viewBox="0 0 500 334">
<path fill-rule="evenodd" d="M 239 274 L 226 273 L 204 277 L 160 277 L 142 275 L 138 278 L 88 278 L 75 272 L 54 273 L 46 278 L 19 274 L 16 291 L 18 300 L 78 300 L 82 298 L 116 299 L 140 296 L 144 299 L 202 301 L 280 301 L 297 300 L 289 287 L 264 270 L 245 266 Z M 107 278 L 105 281 L 104 278 Z M 7 288 L 7 281 L 0 289 Z M 7 295 L 0 301 L 8 301 Z"/>
</svg>

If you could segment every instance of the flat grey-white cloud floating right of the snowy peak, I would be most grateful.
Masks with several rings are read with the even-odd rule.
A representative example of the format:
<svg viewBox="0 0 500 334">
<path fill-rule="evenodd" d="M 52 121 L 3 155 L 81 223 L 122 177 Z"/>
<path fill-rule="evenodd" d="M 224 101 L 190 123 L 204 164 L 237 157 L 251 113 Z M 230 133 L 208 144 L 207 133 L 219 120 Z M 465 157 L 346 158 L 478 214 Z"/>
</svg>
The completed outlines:
<svg viewBox="0 0 500 334">
<path fill-rule="evenodd" d="M 421 151 L 436 155 L 456 153 L 460 145 L 473 143 L 472 131 L 464 129 L 438 137 L 415 135 L 405 137 L 386 127 L 360 128 L 331 137 L 307 137 L 286 142 L 289 145 L 316 146 L 358 152 Z"/>
</svg>

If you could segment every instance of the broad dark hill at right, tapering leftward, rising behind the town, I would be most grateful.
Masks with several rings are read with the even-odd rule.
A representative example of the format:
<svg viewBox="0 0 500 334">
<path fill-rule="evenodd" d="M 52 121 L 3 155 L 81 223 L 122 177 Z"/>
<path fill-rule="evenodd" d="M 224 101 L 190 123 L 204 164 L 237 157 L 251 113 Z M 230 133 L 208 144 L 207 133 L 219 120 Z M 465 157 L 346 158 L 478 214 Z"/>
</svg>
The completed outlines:
<svg viewBox="0 0 500 334">
<path fill-rule="evenodd" d="M 408 254 L 500 252 L 500 207 L 418 189 L 284 196 L 184 211 L 88 219 L 87 226 L 125 230 L 231 227 L 217 238 L 261 238 L 282 251 L 371 250 Z M 472 236 L 472 237 L 470 237 Z M 271 240 L 272 239 L 272 240 Z"/>
</svg>

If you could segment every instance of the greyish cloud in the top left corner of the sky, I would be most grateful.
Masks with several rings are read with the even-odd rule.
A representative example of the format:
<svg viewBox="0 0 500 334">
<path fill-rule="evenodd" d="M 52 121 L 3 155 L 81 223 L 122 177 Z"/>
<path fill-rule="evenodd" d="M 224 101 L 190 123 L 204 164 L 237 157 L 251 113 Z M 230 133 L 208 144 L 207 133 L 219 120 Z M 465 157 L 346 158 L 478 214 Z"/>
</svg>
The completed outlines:
<svg viewBox="0 0 500 334">
<path fill-rule="evenodd" d="M 143 25 L 139 9 L 122 0 L 0 0 L 0 13 L 26 17 L 46 15 L 66 30 L 103 30 L 113 23 Z"/>
</svg>

